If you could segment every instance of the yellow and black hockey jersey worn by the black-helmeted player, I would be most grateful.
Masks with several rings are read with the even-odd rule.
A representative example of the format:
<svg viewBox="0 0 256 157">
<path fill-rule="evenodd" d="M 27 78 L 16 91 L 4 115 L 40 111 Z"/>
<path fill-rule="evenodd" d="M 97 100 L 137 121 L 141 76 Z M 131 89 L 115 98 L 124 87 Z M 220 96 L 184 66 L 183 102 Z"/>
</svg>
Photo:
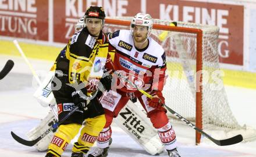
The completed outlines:
<svg viewBox="0 0 256 157">
<path fill-rule="evenodd" d="M 101 31 L 98 39 L 90 35 L 87 28 L 75 33 L 66 46 L 65 54 L 60 54 L 57 70 L 62 70 L 69 77 L 69 83 L 90 82 L 103 74 L 108 41 Z M 63 60 L 66 60 L 63 62 Z M 65 63 L 66 62 L 66 63 Z"/>
</svg>

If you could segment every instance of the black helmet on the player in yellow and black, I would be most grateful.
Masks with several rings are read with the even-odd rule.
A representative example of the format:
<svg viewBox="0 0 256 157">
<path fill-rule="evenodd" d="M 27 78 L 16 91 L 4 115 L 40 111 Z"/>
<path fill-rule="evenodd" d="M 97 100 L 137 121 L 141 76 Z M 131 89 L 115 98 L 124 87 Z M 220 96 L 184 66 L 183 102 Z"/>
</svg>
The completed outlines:
<svg viewBox="0 0 256 157">
<path fill-rule="evenodd" d="M 90 6 L 87 10 L 85 15 L 86 18 L 95 18 L 95 19 L 101 19 L 104 20 L 106 15 L 101 6 Z"/>
</svg>

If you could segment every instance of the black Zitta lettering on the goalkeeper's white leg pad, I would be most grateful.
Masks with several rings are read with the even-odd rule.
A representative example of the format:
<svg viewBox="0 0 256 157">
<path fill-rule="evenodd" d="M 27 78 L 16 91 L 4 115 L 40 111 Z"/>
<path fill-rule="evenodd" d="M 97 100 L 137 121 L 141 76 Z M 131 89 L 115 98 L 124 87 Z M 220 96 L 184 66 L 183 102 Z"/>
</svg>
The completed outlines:
<svg viewBox="0 0 256 157">
<path fill-rule="evenodd" d="M 142 134 L 145 130 L 145 127 L 140 125 L 141 121 L 138 120 L 138 118 L 134 116 L 134 114 L 128 108 L 125 109 L 126 112 L 120 112 L 119 114 L 123 119 L 125 119 L 123 125 L 127 127 L 127 129 L 130 130 L 130 132 L 139 139 L 141 137 L 139 133 Z"/>
</svg>

